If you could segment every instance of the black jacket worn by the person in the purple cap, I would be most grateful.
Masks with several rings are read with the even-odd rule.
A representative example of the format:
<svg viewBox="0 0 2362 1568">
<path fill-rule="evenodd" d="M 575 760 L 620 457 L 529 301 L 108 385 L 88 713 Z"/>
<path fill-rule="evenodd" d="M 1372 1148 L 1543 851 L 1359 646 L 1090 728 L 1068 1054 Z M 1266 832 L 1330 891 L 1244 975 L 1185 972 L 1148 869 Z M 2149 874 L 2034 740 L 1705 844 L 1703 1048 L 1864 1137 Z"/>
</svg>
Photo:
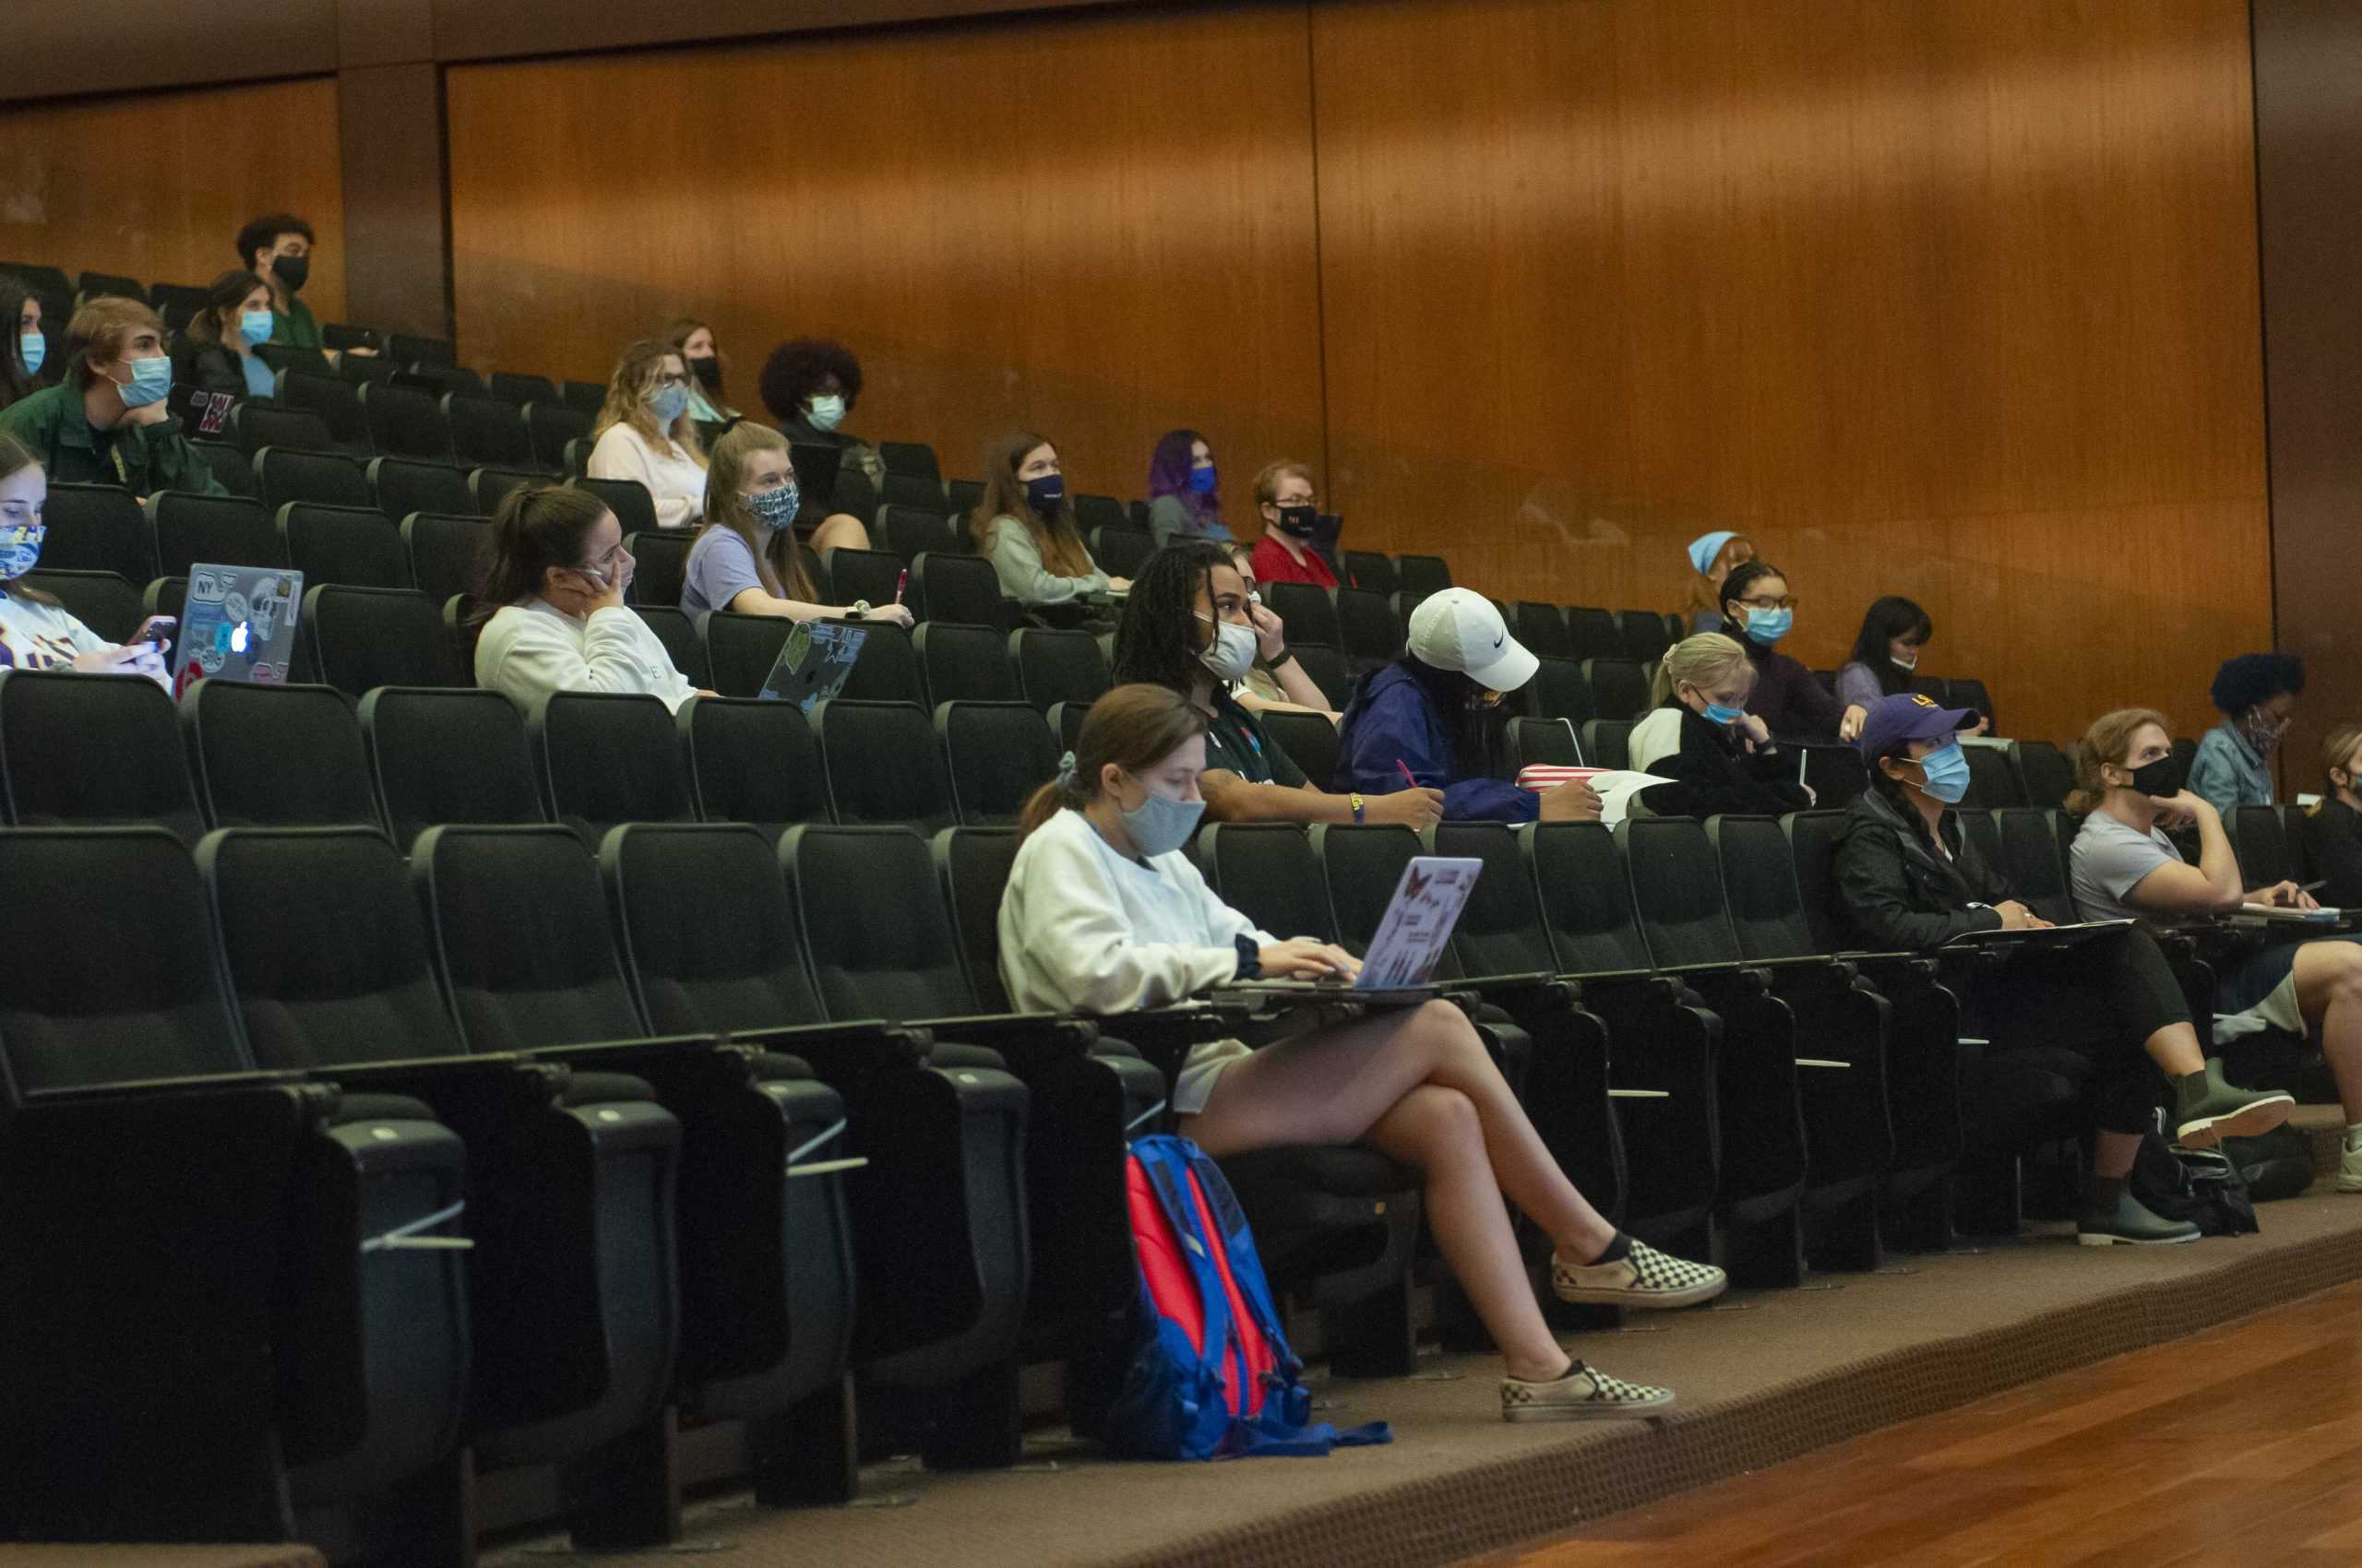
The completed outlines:
<svg viewBox="0 0 2362 1568">
<path fill-rule="evenodd" d="M 1951 860 L 1934 850 L 1925 819 L 1875 784 L 1845 808 L 1838 895 L 1866 949 L 1927 952 L 1970 930 L 2001 930 L 1994 904 L 2010 897 L 2010 886 L 1960 834 L 1958 812 L 1944 812 L 1939 829 Z"/>
</svg>

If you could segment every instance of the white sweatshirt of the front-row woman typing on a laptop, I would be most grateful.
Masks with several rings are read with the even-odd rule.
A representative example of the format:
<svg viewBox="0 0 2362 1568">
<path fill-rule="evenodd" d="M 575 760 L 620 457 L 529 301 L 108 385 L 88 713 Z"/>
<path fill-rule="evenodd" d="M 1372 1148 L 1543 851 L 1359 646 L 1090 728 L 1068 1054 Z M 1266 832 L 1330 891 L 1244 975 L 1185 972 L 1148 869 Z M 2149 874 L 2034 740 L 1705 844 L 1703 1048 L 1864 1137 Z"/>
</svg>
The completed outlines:
<svg viewBox="0 0 2362 1568">
<path fill-rule="evenodd" d="M 1231 909 L 1188 855 L 1115 852 L 1082 812 L 1063 810 L 1018 848 L 1001 893 L 1001 982 L 1025 1013 L 1127 1013 L 1181 1001 L 1238 975 L 1238 937 L 1271 945 Z M 1122 1034 L 1122 1025 L 1113 1030 Z M 1174 1110 L 1195 1115 L 1214 1074 L 1245 1056 L 1235 1039 L 1193 1046 Z"/>
</svg>

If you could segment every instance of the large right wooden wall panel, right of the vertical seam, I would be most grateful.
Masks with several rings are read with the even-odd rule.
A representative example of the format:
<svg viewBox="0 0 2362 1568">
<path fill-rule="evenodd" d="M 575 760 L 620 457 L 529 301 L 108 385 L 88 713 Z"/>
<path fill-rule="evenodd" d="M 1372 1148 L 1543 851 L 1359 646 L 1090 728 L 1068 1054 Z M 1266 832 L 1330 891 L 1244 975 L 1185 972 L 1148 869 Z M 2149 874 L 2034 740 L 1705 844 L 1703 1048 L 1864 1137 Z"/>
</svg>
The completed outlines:
<svg viewBox="0 0 2362 1568">
<path fill-rule="evenodd" d="M 2270 640 L 2242 0 L 1311 19 L 1358 543 L 1623 607 L 1743 527 L 1793 652 L 1911 593 L 2029 734 Z"/>
</svg>

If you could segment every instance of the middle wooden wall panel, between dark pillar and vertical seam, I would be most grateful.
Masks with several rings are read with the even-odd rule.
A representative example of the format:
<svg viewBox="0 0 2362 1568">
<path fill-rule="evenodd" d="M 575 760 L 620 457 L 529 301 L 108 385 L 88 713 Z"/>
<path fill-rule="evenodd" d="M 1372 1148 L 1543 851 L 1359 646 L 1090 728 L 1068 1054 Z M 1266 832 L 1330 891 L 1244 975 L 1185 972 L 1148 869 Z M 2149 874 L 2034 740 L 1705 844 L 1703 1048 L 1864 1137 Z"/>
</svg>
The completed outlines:
<svg viewBox="0 0 2362 1568">
<path fill-rule="evenodd" d="M 732 394 L 789 335 L 867 373 L 848 430 L 973 477 L 1009 427 L 1136 496 L 1207 432 L 1233 515 L 1318 453 L 1301 9 L 458 66 L 451 243 L 470 364 L 605 378 L 694 312 Z"/>
</svg>

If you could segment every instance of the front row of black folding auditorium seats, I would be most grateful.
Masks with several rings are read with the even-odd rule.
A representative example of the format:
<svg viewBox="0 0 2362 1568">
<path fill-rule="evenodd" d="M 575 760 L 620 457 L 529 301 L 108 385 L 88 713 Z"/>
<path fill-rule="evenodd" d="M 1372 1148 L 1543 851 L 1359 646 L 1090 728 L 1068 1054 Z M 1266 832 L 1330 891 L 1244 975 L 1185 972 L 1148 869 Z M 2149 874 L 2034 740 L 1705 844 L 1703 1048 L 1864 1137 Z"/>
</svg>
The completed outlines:
<svg viewBox="0 0 2362 1568">
<path fill-rule="evenodd" d="M 1963 1150 L 1963 1219 L 2015 1223 L 2015 1155 L 2074 1122 L 2069 1086 L 2041 1115 L 2020 1100 L 2008 1126 L 1970 1103 L 1963 1124 L 1942 966 L 1819 956 L 1845 945 L 1826 928 L 1831 824 L 1446 824 L 1431 841 L 1486 862 L 1448 989 L 1516 1063 L 1535 1126 L 1625 1228 L 1694 1254 L 1720 1233 L 1750 1285 L 1793 1285 L 1807 1252 L 1866 1268 L 1883 1244 L 1942 1244 Z M 1162 1096 L 1138 1053 L 1079 1025 L 961 1018 L 1006 1006 L 992 942 L 1013 848 L 1006 829 L 928 843 L 905 827 L 794 827 L 772 845 L 749 827 L 624 824 L 593 860 L 557 827 L 442 827 L 404 869 L 368 824 L 229 829 L 194 855 L 154 829 L 9 829 L 0 864 L 47 895 L 59 952 L 106 954 L 0 980 L 12 1093 L 33 1110 L 64 1096 L 64 1119 L 19 1124 L 59 1129 L 43 1145 L 57 1164 L 26 1167 L 28 1193 L 87 1174 L 87 1157 L 61 1157 L 66 1131 L 139 1115 L 182 1138 L 201 1126 L 194 1089 L 92 1093 L 106 1082 L 208 1077 L 220 1084 L 198 1098 L 295 1100 L 302 1115 L 281 1122 L 300 1138 L 281 1136 L 347 1174 L 300 1214 L 288 1197 L 250 1214 L 342 1226 L 345 1254 L 364 1247 L 359 1275 L 269 1268 L 248 1237 L 239 1256 L 260 1273 L 208 1306 L 272 1322 L 274 1348 L 321 1384 L 295 1379 L 260 1405 L 246 1386 L 239 1412 L 224 1410 L 239 1389 L 210 1389 L 198 1407 L 243 1419 L 239 1436 L 305 1422 L 286 1445 L 300 1507 L 392 1495 L 428 1537 L 449 1530 L 456 1502 L 418 1478 L 449 1490 L 465 1433 L 484 1466 L 562 1462 L 586 1544 L 647 1540 L 676 1518 L 676 1415 L 753 1419 L 768 1500 L 836 1495 L 850 1436 L 815 1433 L 846 1419 L 848 1365 L 914 1396 L 938 1462 L 1006 1462 L 1013 1365 L 1070 1353 L 1129 1289 L 1122 1133 Z M 1212 827 L 1195 852 L 1259 923 L 1358 949 L 1420 850 L 1408 829 Z M 824 1018 L 957 1023 L 782 1034 Z M 1169 1074 L 1216 1023 L 1233 1027 L 1176 1015 L 1105 1030 L 1138 1037 Z M 739 1048 L 713 1044 L 725 1032 Z M 626 1039 L 638 1044 L 586 1046 Z M 572 1051 L 550 1056 L 560 1046 Z M 846 1145 L 824 1138 L 836 1117 L 850 1119 Z M 834 1148 L 869 1164 L 798 1171 L 834 1164 L 817 1155 Z M 158 1133 L 109 1193 L 144 1197 L 135 1176 L 161 1178 L 168 1152 L 189 1157 Z M 1316 1155 L 1264 1181 L 1242 1171 L 1266 1202 L 1266 1259 L 1313 1299 L 1361 1304 L 1344 1315 L 1361 1327 L 1356 1365 L 1408 1370 L 1410 1181 L 1375 1157 L 1353 1167 L 1353 1150 Z M 248 1171 L 248 1197 L 267 1169 Z M 765 1193 L 777 1202 L 751 1202 Z M 184 1190 L 165 1211 L 213 1195 Z M 465 1266 L 399 1244 L 451 1235 L 458 1202 L 477 1244 Z M 76 1230 L 118 1219 L 85 1204 Z M 9 1301 L 38 1329 L 87 1308 L 87 1289 Z M 383 1360 L 354 1355 L 378 1334 Z M 182 1344 L 125 1346 L 120 1381 L 85 1389 L 83 1407 L 128 1403 Z M 31 1412 L 31 1445 L 64 1389 L 9 1377 L 31 1396 L 12 1403 Z M 1089 1367 L 1072 1379 L 1091 1389 Z M 234 1459 L 253 1469 L 269 1445 L 210 1452 L 201 1478 L 222 1488 L 253 1481 Z M 57 1469 L 52 1450 L 31 1478 L 64 1514 L 90 1485 Z M 236 1488 L 203 1495 L 236 1500 L 246 1525 L 262 1507 Z M 177 1488 L 161 1497 L 198 1507 Z"/>
</svg>

